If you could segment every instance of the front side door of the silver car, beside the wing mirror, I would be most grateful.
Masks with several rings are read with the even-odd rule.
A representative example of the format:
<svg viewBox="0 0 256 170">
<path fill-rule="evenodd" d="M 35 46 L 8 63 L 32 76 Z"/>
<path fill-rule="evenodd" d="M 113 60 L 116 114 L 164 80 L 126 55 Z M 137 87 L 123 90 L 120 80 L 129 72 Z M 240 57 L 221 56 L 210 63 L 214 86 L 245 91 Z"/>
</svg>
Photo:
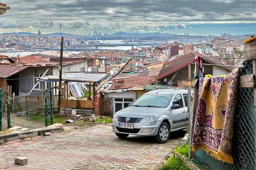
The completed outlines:
<svg viewBox="0 0 256 170">
<path fill-rule="evenodd" d="M 182 94 L 175 94 L 172 106 L 177 104 L 180 108 L 172 109 L 172 130 L 186 126 L 186 111 L 184 108 L 184 102 Z"/>
</svg>

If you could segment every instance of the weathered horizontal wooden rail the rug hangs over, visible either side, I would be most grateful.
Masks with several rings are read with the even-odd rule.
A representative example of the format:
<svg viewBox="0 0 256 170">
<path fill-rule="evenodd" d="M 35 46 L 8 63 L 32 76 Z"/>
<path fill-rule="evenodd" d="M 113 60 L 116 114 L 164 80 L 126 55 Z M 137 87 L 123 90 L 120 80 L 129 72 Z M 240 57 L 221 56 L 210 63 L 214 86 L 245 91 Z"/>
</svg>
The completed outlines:
<svg viewBox="0 0 256 170">
<path fill-rule="evenodd" d="M 244 75 L 239 77 L 239 87 L 249 88 L 256 87 L 256 76 L 255 75 Z M 197 79 L 178 80 L 178 87 L 195 87 Z"/>
</svg>

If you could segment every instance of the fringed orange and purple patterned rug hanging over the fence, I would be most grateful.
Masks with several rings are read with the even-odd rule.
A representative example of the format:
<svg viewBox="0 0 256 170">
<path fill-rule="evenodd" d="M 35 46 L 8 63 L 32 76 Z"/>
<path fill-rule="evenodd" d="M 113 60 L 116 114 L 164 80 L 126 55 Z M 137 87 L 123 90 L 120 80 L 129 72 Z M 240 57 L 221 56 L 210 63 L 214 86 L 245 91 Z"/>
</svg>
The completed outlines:
<svg viewBox="0 0 256 170">
<path fill-rule="evenodd" d="M 192 151 L 205 150 L 215 159 L 233 164 L 233 122 L 239 69 L 224 77 L 199 79 Z"/>
</svg>

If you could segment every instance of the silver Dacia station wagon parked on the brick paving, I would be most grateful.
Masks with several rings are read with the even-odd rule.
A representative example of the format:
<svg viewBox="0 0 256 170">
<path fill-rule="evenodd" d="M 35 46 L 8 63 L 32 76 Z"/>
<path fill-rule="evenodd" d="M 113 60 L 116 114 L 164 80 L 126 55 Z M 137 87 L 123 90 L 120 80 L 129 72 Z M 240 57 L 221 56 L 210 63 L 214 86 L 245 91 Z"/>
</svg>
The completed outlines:
<svg viewBox="0 0 256 170">
<path fill-rule="evenodd" d="M 112 131 L 119 138 L 154 136 L 166 143 L 170 132 L 186 129 L 189 121 L 186 88 L 155 89 L 113 115 Z"/>
</svg>

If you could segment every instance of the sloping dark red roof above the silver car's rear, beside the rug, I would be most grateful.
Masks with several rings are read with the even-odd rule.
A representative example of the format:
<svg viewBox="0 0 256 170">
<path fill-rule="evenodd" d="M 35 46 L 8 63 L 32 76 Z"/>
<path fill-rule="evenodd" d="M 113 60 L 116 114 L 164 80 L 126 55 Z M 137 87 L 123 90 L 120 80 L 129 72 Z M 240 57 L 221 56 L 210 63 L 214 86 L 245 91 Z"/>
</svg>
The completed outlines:
<svg viewBox="0 0 256 170">
<path fill-rule="evenodd" d="M 173 59 L 169 62 L 164 63 L 163 68 L 158 74 L 157 79 L 162 79 L 168 76 L 169 74 L 172 74 L 176 71 L 179 71 L 185 68 L 189 62 L 195 62 L 195 56 L 203 57 L 197 51 L 192 51 L 192 52 L 189 52 L 188 54 L 178 57 L 177 59 Z"/>
</svg>

